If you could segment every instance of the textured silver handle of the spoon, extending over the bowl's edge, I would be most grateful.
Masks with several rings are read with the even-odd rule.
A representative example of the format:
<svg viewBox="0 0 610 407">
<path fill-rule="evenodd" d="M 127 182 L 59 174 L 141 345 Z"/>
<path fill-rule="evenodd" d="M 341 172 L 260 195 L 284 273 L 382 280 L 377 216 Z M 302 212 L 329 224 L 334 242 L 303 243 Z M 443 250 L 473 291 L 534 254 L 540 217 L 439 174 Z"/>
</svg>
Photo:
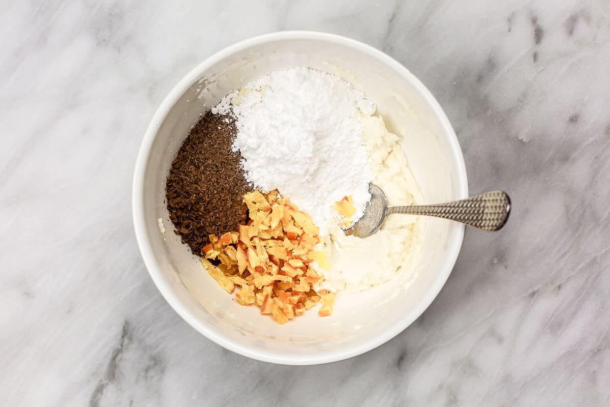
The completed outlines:
<svg viewBox="0 0 610 407">
<path fill-rule="evenodd" d="M 484 231 L 497 231 L 508 219 L 511 200 L 502 191 L 491 191 L 461 201 L 420 206 L 392 206 L 387 214 L 436 216 Z"/>
</svg>

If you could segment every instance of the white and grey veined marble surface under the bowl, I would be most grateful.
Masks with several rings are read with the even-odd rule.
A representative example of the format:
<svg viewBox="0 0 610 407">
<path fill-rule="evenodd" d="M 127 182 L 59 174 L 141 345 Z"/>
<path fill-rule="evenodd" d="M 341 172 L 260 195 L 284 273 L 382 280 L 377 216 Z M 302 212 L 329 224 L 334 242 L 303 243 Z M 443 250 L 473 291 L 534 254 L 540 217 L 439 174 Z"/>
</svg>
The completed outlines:
<svg viewBox="0 0 610 407">
<path fill-rule="evenodd" d="M 6 406 L 610 402 L 610 3 L 0 2 L 0 400 Z M 196 333 L 132 231 L 148 120 L 212 52 L 282 29 L 403 62 L 458 133 L 471 192 L 512 195 L 386 345 L 274 366 Z"/>
</svg>

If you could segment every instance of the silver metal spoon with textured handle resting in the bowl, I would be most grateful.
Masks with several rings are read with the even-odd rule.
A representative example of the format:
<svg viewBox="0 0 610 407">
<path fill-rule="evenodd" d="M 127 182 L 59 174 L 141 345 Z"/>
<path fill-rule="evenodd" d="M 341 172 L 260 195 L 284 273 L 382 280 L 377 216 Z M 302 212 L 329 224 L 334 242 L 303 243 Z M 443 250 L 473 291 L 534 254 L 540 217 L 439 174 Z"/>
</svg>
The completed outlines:
<svg viewBox="0 0 610 407">
<path fill-rule="evenodd" d="M 368 184 L 371 200 L 364 215 L 351 228 L 345 229 L 346 235 L 367 237 L 381 228 L 387 215 L 411 214 L 445 218 L 484 231 L 497 231 L 508 219 L 511 200 L 502 191 L 491 191 L 472 196 L 465 200 L 444 204 L 419 206 L 387 206 L 386 195 L 375 184 Z"/>
</svg>

